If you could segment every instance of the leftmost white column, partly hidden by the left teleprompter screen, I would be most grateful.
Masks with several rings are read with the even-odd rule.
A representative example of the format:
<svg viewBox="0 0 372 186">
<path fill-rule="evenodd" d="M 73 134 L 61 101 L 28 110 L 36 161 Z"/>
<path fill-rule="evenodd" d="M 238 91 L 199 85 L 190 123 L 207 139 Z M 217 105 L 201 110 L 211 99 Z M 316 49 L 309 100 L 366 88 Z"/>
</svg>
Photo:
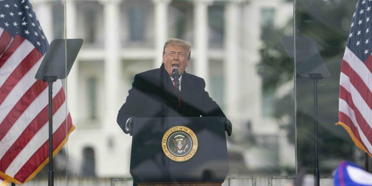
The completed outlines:
<svg viewBox="0 0 372 186">
<path fill-rule="evenodd" d="M 76 38 L 76 2 L 74 0 L 66 1 L 66 35 L 67 39 Z M 62 15 L 61 15 L 62 16 Z M 64 20 L 63 20 L 64 21 Z M 64 22 L 59 23 L 64 24 Z M 79 55 L 77 56 L 70 73 L 67 76 L 67 105 L 71 113 L 72 121 L 75 125 L 79 123 Z"/>
</svg>

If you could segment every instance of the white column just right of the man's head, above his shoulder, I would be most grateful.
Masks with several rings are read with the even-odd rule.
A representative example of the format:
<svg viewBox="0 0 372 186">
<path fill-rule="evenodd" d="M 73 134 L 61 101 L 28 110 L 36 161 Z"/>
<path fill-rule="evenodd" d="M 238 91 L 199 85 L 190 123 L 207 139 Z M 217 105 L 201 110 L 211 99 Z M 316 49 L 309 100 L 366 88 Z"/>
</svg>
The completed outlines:
<svg viewBox="0 0 372 186">
<path fill-rule="evenodd" d="M 209 88 L 208 72 L 208 4 L 212 0 L 194 1 L 194 51 L 196 52 L 194 72 L 195 75 L 204 78 Z M 192 52 L 191 52 L 192 53 Z"/>
</svg>

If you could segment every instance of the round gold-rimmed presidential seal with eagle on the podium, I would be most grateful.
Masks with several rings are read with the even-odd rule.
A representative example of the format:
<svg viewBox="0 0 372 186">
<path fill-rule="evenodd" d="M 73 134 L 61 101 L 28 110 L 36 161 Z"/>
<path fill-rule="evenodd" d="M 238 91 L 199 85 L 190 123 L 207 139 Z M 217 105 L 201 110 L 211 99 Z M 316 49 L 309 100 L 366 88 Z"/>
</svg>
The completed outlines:
<svg viewBox="0 0 372 186">
<path fill-rule="evenodd" d="M 165 132 L 162 149 L 164 154 L 173 161 L 187 161 L 196 153 L 196 135 L 185 126 L 174 126 Z"/>
</svg>

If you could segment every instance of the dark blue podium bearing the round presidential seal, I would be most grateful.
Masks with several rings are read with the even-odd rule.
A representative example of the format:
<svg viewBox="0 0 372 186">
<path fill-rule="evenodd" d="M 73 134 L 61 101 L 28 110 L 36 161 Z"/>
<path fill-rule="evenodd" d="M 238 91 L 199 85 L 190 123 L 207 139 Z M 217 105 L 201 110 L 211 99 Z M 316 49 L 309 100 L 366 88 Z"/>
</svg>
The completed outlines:
<svg viewBox="0 0 372 186">
<path fill-rule="evenodd" d="M 134 119 L 130 174 L 138 186 L 221 186 L 228 172 L 222 117 Z"/>
</svg>

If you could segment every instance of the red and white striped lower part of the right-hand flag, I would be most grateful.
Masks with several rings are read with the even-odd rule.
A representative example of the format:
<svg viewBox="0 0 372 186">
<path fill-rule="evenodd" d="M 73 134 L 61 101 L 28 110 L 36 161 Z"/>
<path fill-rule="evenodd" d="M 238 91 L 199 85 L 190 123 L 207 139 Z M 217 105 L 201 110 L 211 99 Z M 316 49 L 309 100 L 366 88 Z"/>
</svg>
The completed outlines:
<svg viewBox="0 0 372 186">
<path fill-rule="evenodd" d="M 372 56 L 362 62 L 346 47 L 340 74 L 339 122 L 362 150 L 372 152 Z"/>
</svg>

